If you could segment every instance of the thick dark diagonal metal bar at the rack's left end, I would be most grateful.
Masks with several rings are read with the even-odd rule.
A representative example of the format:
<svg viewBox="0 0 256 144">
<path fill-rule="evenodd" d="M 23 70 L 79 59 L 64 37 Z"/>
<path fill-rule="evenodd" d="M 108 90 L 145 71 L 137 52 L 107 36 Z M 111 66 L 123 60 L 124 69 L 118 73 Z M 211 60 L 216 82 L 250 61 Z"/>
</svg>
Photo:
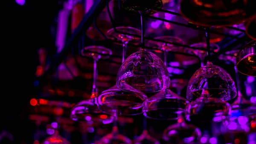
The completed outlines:
<svg viewBox="0 0 256 144">
<path fill-rule="evenodd" d="M 83 29 L 88 29 L 90 25 L 93 23 L 93 17 L 97 17 L 100 12 L 105 8 L 105 0 L 96 0 L 89 10 L 87 14 L 85 14 L 84 18 L 79 23 L 79 26 L 75 29 L 75 32 L 71 37 L 67 40 L 65 43 L 64 48 L 61 50 L 60 53 L 56 54 L 52 60 L 52 63 L 50 63 L 49 69 L 47 70 L 47 73 L 51 73 L 56 66 L 58 66 L 64 57 L 70 52 L 70 47 L 74 40 L 76 40 L 77 36 L 83 32 Z"/>
</svg>

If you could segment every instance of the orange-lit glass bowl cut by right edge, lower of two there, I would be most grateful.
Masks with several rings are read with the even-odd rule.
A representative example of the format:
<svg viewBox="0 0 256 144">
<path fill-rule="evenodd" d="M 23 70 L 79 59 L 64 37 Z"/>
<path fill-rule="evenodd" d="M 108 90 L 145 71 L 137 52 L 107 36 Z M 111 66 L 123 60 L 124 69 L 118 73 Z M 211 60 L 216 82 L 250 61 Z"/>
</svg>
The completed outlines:
<svg viewBox="0 0 256 144">
<path fill-rule="evenodd" d="M 256 40 L 247 43 L 236 58 L 237 70 L 244 74 L 256 77 Z"/>
</svg>

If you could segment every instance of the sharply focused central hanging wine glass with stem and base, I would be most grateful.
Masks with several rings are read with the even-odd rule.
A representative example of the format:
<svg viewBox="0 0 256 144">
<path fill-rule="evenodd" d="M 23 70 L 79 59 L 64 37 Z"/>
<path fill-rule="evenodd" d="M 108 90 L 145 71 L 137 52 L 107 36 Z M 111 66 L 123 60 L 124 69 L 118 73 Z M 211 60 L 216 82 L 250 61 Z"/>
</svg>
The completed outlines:
<svg viewBox="0 0 256 144">
<path fill-rule="evenodd" d="M 163 3 L 161 0 L 145 2 L 122 0 L 124 9 L 139 13 L 141 18 L 141 49 L 122 63 L 117 74 L 116 85 L 122 90 L 125 90 L 125 84 L 140 92 L 158 92 L 170 86 L 169 73 L 163 61 L 145 49 L 144 15 L 154 13 L 148 8 L 161 8 Z"/>
</svg>

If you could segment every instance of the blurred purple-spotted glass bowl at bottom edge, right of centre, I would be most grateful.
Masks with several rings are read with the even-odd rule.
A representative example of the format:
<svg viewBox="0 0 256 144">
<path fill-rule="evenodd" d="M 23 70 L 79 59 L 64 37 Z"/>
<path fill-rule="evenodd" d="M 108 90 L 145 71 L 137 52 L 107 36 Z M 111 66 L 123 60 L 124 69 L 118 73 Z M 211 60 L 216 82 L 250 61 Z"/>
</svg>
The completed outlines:
<svg viewBox="0 0 256 144">
<path fill-rule="evenodd" d="M 201 138 L 201 131 L 192 124 L 187 124 L 179 119 L 163 131 L 163 140 L 167 144 L 198 144 Z"/>
</svg>

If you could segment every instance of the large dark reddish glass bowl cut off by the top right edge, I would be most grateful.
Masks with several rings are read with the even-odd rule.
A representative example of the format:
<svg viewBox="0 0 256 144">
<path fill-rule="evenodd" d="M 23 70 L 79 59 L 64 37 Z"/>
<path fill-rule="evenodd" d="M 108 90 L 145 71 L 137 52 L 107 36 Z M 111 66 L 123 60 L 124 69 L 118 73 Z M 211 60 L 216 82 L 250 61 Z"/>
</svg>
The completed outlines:
<svg viewBox="0 0 256 144">
<path fill-rule="evenodd" d="M 180 13 L 198 26 L 232 26 L 255 14 L 255 0 L 181 0 Z"/>
</svg>

